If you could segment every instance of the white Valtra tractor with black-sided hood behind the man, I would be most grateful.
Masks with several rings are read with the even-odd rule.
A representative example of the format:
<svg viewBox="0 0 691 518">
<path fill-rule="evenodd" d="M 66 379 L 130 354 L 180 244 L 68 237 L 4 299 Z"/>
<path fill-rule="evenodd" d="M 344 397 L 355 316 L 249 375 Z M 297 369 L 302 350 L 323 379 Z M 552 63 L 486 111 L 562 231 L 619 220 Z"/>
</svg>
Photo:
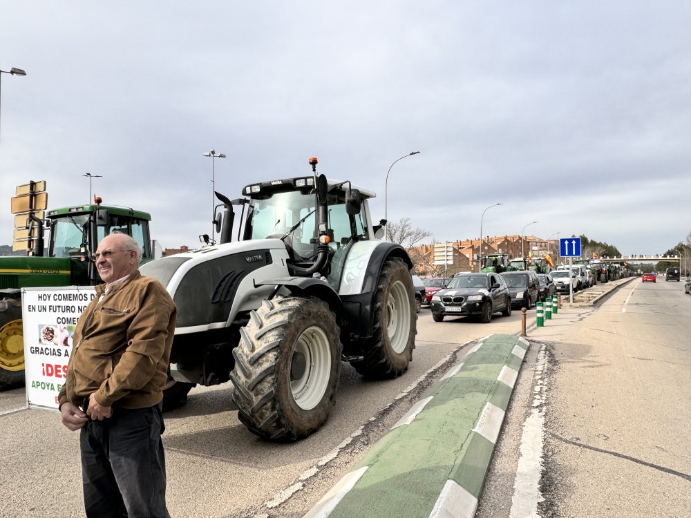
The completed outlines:
<svg viewBox="0 0 691 518">
<path fill-rule="evenodd" d="M 225 206 L 218 244 L 141 267 L 178 308 L 165 407 L 195 384 L 230 380 L 240 421 L 290 441 L 328 418 L 341 362 L 368 378 L 408 369 L 413 264 L 403 247 L 381 240 L 386 221 L 372 224 L 375 193 L 317 176 L 316 163 L 312 175 L 246 186 L 247 198 L 216 193 Z M 231 242 L 239 205 L 243 239 L 238 229 Z"/>
</svg>

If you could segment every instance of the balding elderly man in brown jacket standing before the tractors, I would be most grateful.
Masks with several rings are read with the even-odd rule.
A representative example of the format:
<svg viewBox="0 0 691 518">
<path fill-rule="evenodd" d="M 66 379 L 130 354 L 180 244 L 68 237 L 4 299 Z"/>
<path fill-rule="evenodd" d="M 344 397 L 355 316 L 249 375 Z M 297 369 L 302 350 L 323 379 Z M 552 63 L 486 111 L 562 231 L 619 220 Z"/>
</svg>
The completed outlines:
<svg viewBox="0 0 691 518">
<path fill-rule="evenodd" d="M 96 267 L 106 284 L 79 317 L 59 394 L 62 423 L 82 430 L 90 518 L 169 517 L 161 409 L 176 307 L 158 280 L 142 277 L 141 255 L 125 234 L 98 245 Z"/>
</svg>

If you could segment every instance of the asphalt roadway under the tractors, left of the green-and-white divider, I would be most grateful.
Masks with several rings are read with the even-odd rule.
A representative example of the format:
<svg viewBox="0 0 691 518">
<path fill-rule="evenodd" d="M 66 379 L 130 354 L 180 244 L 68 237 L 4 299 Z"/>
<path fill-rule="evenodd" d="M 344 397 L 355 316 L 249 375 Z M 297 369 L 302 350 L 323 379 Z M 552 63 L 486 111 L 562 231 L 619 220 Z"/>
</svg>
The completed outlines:
<svg viewBox="0 0 691 518">
<path fill-rule="evenodd" d="M 534 314 L 534 309 L 529 312 L 533 320 Z M 238 421 L 230 384 L 193 389 L 187 405 L 165 414 L 171 515 L 301 517 L 446 367 L 437 366 L 415 390 L 395 400 L 406 387 L 468 340 L 519 331 L 520 311 L 510 317 L 495 314 L 490 324 L 482 324 L 462 317 L 435 323 L 429 309 L 423 309 L 408 372 L 394 380 L 368 382 L 344 364 L 329 421 L 312 437 L 293 444 L 268 443 L 248 432 Z M 447 365 L 454 360 L 448 358 Z M 0 392 L 0 414 L 23 404 L 23 390 Z M 366 428 L 359 430 L 363 425 Z M 77 434 L 59 423 L 57 413 L 44 410 L 0 415 L 0 427 L 0 516 L 84 516 Z M 357 441 L 316 466 L 357 431 Z M 316 474 L 299 480 L 315 466 Z M 302 487 L 281 503 L 287 495 L 281 491 L 296 484 Z M 269 501 L 276 507 L 267 508 Z"/>
</svg>

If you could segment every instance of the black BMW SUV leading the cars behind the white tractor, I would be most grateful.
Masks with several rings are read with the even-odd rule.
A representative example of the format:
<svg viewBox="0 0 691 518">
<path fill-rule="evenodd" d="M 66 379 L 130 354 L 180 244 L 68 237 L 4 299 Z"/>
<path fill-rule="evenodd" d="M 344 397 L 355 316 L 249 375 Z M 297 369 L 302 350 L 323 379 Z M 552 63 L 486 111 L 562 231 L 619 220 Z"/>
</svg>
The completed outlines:
<svg viewBox="0 0 691 518">
<path fill-rule="evenodd" d="M 511 315 L 509 287 L 499 274 L 459 274 L 432 296 L 431 303 L 435 322 L 444 316 L 477 315 L 489 323 L 497 311 Z"/>
</svg>

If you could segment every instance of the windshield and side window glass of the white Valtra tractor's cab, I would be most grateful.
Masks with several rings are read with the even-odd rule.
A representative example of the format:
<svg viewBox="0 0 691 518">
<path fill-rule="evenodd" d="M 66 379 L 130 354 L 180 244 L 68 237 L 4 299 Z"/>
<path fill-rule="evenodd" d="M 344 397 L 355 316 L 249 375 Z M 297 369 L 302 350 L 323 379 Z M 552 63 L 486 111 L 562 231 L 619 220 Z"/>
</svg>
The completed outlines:
<svg viewBox="0 0 691 518">
<path fill-rule="evenodd" d="M 309 261 L 316 255 L 316 196 L 300 191 L 273 193 L 262 200 L 252 199 L 245 227 L 245 239 L 282 239 L 294 261 Z M 345 212 L 342 193 L 329 195 L 329 247 L 337 253 L 351 242 L 367 239 L 365 211 Z M 342 254 L 341 254 L 342 255 Z"/>
</svg>

